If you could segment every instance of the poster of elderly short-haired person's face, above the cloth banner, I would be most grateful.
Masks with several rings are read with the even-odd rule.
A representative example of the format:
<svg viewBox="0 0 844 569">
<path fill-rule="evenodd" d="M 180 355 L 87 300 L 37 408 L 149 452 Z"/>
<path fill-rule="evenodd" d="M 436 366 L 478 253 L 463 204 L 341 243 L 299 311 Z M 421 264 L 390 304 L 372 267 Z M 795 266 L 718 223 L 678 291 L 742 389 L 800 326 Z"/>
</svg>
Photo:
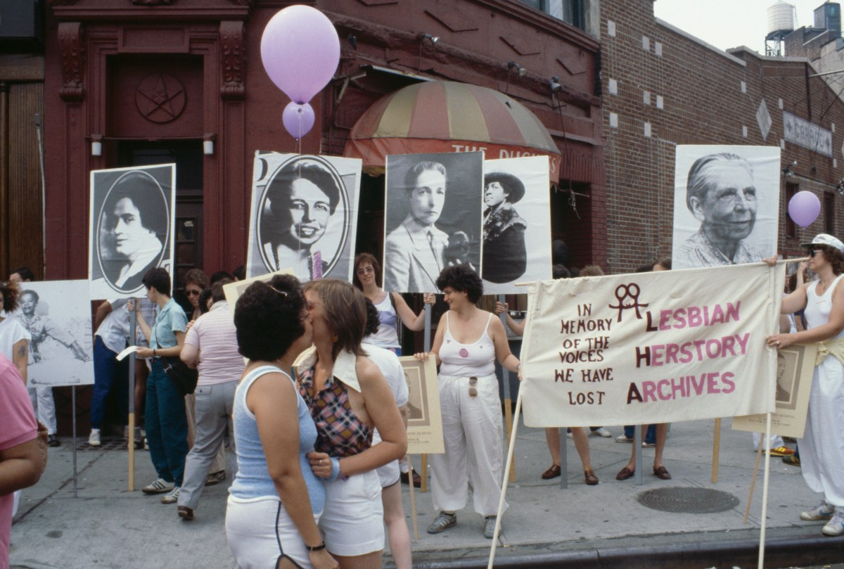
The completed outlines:
<svg viewBox="0 0 844 569">
<path fill-rule="evenodd" d="M 674 268 L 776 254 L 778 146 L 680 145 L 674 163 Z"/>
</svg>

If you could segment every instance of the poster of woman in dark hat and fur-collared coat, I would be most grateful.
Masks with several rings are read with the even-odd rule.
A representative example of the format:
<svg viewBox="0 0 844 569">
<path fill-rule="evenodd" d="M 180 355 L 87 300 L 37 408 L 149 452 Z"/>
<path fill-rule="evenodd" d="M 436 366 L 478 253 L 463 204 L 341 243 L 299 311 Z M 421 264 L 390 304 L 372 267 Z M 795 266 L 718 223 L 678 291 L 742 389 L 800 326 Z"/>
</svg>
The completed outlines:
<svg viewBox="0 0 844 569">
<path fill-rule="evenodd" d="M 484 294 L 516 295 L 517 282 L 551 279 L 548 172 L 548 156 L 484 161 Z"/>
</svg>

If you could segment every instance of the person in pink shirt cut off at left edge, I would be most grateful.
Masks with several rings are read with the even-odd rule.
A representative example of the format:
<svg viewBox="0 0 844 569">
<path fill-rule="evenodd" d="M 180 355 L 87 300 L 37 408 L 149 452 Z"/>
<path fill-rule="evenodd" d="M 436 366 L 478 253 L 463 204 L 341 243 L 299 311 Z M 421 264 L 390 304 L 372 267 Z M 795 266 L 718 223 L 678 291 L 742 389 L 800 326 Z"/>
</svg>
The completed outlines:
<svg viewBox="0 0 844 569">
<path fill-rule="evenodd" d="M 0 354 L 0 569 L 8 569 L 13 493 L 41 478 L 47 462 L 46 437 L 46 427 L 35 422 L 24 380 Z"/>
</svg>

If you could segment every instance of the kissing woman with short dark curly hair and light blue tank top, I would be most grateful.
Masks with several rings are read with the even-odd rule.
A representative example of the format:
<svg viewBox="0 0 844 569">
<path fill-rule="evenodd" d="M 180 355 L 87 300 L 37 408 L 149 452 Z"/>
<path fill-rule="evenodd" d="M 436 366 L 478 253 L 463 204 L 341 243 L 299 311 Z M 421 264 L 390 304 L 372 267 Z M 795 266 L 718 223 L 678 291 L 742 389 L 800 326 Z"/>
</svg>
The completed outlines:
<svg viewBox="0 0 844 569">
<path fill-rule="evenodd" d="M 243 569 L 337 567 L 317 528 L 325 490 L 306 458 L 317 429 L 287 372 L 311 344 L 299 281 L 279 275 L 250 285 L 235 306 L 235 328 L 249 362 L 232 414 L 238 471 L 225 513 L 229 547 Z"/>
</svg>

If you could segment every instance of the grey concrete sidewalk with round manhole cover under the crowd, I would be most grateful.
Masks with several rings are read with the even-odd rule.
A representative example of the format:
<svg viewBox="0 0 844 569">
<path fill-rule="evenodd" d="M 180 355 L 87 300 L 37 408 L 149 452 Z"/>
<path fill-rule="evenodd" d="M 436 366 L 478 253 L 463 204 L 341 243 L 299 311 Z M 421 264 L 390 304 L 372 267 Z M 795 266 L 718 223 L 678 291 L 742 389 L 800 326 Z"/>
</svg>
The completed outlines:
<svg viewBox="0 0 844 569">
<path fill-rule="evenodd" d="M 674 423 L 664 463 L 672 480 L 651 474 L 652 448 L 642 449 L 642 485 L 617 481 L 615 474 L 630 458 L 630 444 L 590 436 L 592 468 L 601 483 L 587 486 L 571 439 L 567 441 L 568 488 L 560 479 L 541 480 L 550 458 L 544 431 L 523 425 L 517 432 L 516 482 L 506 499 L 503 531 L 495 566 L 510 567 L 755 567 L 760 536 L 764 457 L 755 484 L 749 523 L 744 523 L 755 465 L 751 435 L 732 431 L 722 421 L 718 481 L 711 482 L 713 421 Z M 86 433 L 87 434 L 87 433 Z M 13 568 L 236 567 L 225 539 L 225 500 L 231 476 L 203 492 L 196 519 L 177 518 L 176 506 L 160 496 L 145 496 L 140 487 L 154 480 L 149 453 L 135 453 L 133 492 L 127 491 L 126 450 L 87 447 L 77 439 L 78 497 L 73 497 L 73 449 L 69 437 L 51 448 L 41 481 L 24 490 L 12 527 Z M 230 456 L 227 453 L 227 456 Z M 419 468 L 419 457 L 414 457 Z M 809 566 L 844 560 L 844 538 L 825 538 L 822 523 L 807 523 L 799 513 L 820 499 L 809 491 L 800 469 L 771 458 L 766 529 L 766 566 Z M 430 488 L 430 485 L 429 485 Z M 637 497 L 654 490 L 711 489 L 733 496 L 733 506 L 715 513 L 661 512 Z M 404 511 L 413 538 L 409 489 L 403 485 Z M 657 492 L 658 494 L 658 492 Z M 654 496 L 643 496 L 643 499 Z M 657 496 L 658 497 L 658 496 Z M 663 496 L 664 497 L 664 496 Z M 419 539 L 413 542 L 414 566 L 485 567 L 490 539 L 483 520 L 468 507 L 457 512 L 457 526 L 430 535 L 436 517 L 430 493 L 415 492 Z M 687 504 L 705 509 L 707 503 Z M 385 565 L 392 566 L 388 550 Z"/>
</svg>

